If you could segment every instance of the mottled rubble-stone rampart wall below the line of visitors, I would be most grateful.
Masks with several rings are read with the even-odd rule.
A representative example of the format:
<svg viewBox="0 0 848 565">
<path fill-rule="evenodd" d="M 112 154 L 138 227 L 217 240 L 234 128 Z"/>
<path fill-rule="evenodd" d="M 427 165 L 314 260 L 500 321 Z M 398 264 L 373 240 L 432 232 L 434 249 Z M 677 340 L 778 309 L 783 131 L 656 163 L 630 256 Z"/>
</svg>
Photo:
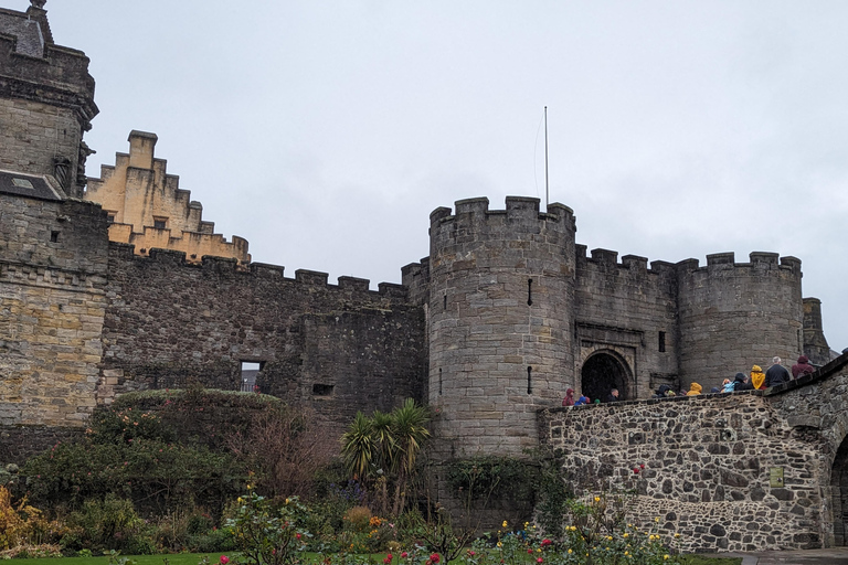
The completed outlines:
<svg viewBox="0 0 848 565">
<path fill-rule="evenodd" d="M 540 439 L 562 451 L 577 493 L 635 487 L 628 520 L 680 533 L 686 551 L 825 540 L 833 457 L 759 392 L 542 411 Z"/>
</svg>

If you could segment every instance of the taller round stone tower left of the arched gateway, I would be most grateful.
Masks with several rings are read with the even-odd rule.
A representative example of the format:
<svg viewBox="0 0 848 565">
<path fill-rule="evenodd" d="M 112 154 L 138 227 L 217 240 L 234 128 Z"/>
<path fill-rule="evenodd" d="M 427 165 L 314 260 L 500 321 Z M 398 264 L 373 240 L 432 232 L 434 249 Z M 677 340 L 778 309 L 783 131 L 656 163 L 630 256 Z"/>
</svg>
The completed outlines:
<svg viewBox="0 0 848 565">
<path fill-rule="evenodd" d="M 520 456 L 573 385 L 574 214 L 539 199 L 431 214 L 430 404 L 443 458 Z"/>
</svg>

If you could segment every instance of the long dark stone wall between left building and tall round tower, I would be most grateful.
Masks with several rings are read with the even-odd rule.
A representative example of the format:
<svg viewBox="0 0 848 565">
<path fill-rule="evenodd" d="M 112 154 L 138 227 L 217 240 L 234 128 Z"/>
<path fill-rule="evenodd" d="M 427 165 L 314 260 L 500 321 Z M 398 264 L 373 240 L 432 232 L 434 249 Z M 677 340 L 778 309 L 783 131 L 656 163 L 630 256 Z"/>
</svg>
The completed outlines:
<svg viewBox="0 0 848 565">
<path fill-rule="evenodd" d="M 425 397 L 422 309 L 400 285 L 131 246 L 109 247 L 102 402 L 192 382 L 239 390 L 241 363 L 261 364 L 263 393 L 312 406 L 340 429 L 357 411 Z"/>
</svg>

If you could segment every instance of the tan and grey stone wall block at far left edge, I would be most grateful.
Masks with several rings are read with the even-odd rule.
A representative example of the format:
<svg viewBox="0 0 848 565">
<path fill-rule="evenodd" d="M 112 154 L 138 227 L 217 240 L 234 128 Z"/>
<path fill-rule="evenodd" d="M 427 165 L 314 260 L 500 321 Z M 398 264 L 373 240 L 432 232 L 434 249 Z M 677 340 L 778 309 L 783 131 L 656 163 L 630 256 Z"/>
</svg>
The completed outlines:
<svg viewBox="0 0 848 565">
<path fill-rule="evenodd" d="M 106 218 L 0 194 L 0 425 L 80 427 L 95 406 Z"/>
</svg>

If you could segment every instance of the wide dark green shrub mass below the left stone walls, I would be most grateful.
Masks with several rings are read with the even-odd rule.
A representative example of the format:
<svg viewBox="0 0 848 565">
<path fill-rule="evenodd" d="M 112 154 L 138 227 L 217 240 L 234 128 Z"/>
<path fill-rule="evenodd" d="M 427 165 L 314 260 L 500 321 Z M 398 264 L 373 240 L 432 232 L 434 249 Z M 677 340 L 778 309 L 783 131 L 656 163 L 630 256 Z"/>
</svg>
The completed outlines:
<svg viewBox="0 0 848 565">
<path fill-rule="evenodd" d="M 26 461 L 26 486 L 33 500 L 72 510 L 113 494 L 155 514 L 198 502 L 220 511 L 241 490 L 243 466 L 206 446 L 177 444 L 176 437 L 152 412 L 121 406 L 99 411 L 84 438 L 57 444 Z"/>
</svg>

